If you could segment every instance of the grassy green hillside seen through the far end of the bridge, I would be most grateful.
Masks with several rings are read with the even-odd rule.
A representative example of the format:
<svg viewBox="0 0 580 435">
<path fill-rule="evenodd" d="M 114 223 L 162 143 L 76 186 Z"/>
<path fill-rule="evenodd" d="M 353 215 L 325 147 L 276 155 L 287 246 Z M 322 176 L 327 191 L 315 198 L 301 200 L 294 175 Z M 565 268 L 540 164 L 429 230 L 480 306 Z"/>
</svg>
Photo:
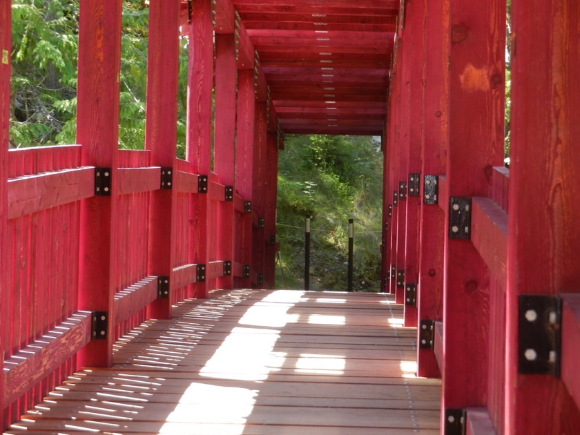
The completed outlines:
<svg viewBox="0 0 580 435">
<path fill-rule="evenodd" d="M 370 137 L 289 136 L 280 151 L 277 286 L 304 288 L 305 219 L 311 217 L 313 290 L 347 287 L 348 220 L 354 218 L 354 289 L 378 291 L 383 154 Z"/>
</svg>

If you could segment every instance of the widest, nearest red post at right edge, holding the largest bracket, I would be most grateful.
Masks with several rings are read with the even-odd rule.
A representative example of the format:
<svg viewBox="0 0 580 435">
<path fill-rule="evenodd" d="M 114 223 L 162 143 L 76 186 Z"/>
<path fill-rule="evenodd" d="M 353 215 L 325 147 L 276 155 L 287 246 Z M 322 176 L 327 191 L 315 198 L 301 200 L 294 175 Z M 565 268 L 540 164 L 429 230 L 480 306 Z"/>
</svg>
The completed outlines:
<svg viewBox="0 0 580 435">
<path fill-rule="evenodd" d="M 512 23 L 504 432 L 572 434 L 579 413 L 561 381 L 518 373 L 517 298 L 580 289 L 580 4 L 516 0 Z"/>
</svg>

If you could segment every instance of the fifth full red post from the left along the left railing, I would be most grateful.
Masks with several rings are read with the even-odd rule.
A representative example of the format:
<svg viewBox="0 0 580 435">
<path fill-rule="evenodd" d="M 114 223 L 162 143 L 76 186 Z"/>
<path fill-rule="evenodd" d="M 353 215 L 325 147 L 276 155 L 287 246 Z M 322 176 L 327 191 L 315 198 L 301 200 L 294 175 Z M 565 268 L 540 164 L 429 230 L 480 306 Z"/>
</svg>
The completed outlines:
<svg viewBox="0 0 580 435">
<path fill-rule="evenodd" d="M 235 162 L 235 186 L 244 201 L 254 202 L 254 135 L 255 135 L 255 79 L 253 70 L 238 72 L 238 141 Z M 238 235 L 240 262 L 252 263 L 252 215 L 242 218 L 241 234 Z M 250 287 L 249 277 L 239 280 L 238 287 Z"/>
</svg>

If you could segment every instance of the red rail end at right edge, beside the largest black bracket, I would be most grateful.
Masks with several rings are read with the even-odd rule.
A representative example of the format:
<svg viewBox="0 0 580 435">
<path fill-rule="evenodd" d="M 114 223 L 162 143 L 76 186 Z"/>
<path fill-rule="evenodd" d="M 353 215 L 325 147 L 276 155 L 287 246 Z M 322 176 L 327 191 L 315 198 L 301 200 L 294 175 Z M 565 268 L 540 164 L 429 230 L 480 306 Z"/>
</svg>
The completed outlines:
<svg viewBox="0 0 580 435">
<path fill-rule="evenodd" d="M 561 378 L 580 408 L 580 293 L 566 293 L 562 298 Z"/>
</svg>

